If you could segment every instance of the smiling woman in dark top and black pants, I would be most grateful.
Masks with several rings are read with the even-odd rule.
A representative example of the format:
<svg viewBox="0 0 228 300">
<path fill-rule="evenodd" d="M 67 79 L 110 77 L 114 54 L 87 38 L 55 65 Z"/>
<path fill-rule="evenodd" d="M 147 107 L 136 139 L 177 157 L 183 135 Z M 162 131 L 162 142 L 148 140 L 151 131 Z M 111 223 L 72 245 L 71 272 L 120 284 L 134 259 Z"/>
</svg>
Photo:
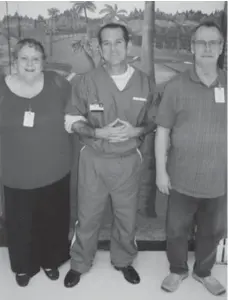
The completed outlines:
<svg viewBox="0 0 228 300">
<path fill-rule="evenodd" d="M 56 280 L 69 258 L 71 141 L 64 129 L 70 84 L 43 71 L 45 52 L 19 41 L 14 72 L 0 82 L 2 181 L 12 271 L 26 286 L 44 269 Z"/>
</svg>

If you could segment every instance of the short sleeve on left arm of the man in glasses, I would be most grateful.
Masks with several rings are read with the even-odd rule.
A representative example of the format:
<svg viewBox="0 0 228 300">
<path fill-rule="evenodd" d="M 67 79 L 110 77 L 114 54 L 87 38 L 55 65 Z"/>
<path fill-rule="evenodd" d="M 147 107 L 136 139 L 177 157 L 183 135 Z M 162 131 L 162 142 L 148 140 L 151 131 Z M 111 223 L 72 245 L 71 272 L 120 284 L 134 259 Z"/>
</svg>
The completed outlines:
<svg viewBox="0 0 228 300">
<path fill-rule="evenodd" d="M 158 106 L 155 123 L 164 128 L 172 128 L 176 119 L 177 85 L 170 82 L 166 85 Z"/>
</svg>

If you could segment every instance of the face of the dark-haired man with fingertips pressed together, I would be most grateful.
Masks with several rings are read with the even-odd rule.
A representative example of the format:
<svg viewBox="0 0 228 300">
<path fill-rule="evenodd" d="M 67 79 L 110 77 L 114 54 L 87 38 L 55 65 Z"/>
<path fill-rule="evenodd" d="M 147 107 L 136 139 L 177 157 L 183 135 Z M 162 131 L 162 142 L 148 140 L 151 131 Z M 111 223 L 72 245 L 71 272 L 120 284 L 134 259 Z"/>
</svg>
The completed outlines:
<svg viewBox="0 0 228 300">
<path fill-rule="evenodd" d="M 101 54 L 110 65 L 119 65 L 127 58 L 127 44 L 121 28 L 105 28 L 101 32 Z"/>
</svg>

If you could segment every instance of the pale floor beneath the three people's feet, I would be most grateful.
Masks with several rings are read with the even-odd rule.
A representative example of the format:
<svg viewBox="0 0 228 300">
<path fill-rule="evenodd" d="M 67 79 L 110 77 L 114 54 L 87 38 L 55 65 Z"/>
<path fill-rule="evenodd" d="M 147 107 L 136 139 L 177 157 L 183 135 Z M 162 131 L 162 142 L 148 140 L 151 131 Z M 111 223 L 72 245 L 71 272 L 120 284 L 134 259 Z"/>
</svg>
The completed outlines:
<svg viewBox="0 0 228 300">
<path fill-rule="evenodd" d="M 189 266 L 193 264 L 193 253 L 189 253 Z M 135 267 L 140 273 L 141 283 L 127 283 L 120 272 L 112 268 L 109 252 L 99 251 L 91 271 L 85 274 L 78 286 L 66 289 L 63 279 L 69 269 L 69 262 L 60 269 L 60 279 L 50 281 L 43 271 L 37 274 L 26 288 L 16 285 L 9 268 L 6 248 L 0 248 L 0 299 L 1 300 L 212 300 L 226 299 L 215 297 L 191 276 L 179 290 L 167 294 L 160 289 L 160 284 L 168 272 L 164 252 L 140 252 L 135 260 Z M 225 285 L 226 267 L 216 265 L 213 274 Z"/>
</svg>

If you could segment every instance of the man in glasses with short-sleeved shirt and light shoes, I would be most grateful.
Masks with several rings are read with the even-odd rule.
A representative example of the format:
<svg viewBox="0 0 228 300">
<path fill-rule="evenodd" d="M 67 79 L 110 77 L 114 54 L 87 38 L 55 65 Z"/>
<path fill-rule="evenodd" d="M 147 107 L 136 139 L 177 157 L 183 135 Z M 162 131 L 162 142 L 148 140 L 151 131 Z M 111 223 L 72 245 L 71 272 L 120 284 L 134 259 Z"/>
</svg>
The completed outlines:
<svg viewBox="0 0 228 300">
<path fill-rule="evenodd" d="M 194 31 L 194 67 L 172 79 L 156 116 L 156 183 L 168 194 L 167 256 L 162 288 L 175 291 L 188 276 L 188 236 L 196 220 L 193 277 L 212 294 L 225 293 L 214 277 L 226 212 L 226 76 L 217 62 L 224 38 L 214 22 Z"/>
</svg>

